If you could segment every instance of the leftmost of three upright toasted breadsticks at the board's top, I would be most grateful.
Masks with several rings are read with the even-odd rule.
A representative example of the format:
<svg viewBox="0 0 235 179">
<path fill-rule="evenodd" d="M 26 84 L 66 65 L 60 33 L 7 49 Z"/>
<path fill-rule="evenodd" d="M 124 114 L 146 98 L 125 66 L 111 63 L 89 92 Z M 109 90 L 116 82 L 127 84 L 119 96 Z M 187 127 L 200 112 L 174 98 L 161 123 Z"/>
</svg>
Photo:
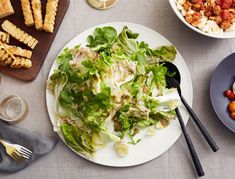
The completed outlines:
<svg viewBox="0 0 235 179">
<path fill-rule="evenodd" d="M 22 6 L 22 11 L 24 14 L 24 23 L 27 26 L 33 26 L 34 25 L 34 20 L 33 20 L 33 14 L 30 6 L 30 1 L 29 0 L 21 0 L 21 6 Z"/>
</svg>

